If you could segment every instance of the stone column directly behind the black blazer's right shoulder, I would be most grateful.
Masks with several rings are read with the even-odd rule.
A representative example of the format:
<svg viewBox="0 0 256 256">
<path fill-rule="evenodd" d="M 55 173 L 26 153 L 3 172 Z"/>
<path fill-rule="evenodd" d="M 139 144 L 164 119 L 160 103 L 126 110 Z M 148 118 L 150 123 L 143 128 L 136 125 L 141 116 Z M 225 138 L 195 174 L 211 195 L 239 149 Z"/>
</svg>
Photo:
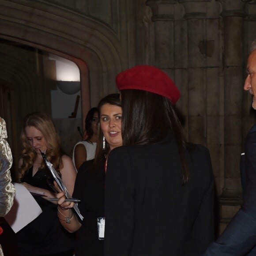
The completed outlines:
<svg viewBox="0 0 256 256">
<path fill-rule="evenodd" d="M 188 45 L 188 141 L 207 144 L 206 57 L 213 41 L 207 41 L 206 12 L 210 0 L 179 0 L 184 6 Z"/>
</svg>

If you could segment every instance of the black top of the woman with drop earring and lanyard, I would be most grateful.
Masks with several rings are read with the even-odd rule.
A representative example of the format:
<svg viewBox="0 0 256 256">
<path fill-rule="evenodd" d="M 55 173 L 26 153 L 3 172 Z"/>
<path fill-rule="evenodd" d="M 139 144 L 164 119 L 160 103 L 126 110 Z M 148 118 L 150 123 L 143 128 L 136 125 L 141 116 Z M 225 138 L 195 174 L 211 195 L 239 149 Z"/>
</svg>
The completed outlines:
<svg viewBox="0 0 256 256">
<path fill-rule="evenodd" d="M 93 168 L 93 161 L 80 166 L 75 180 L 73 197 L 81 200 L 78 207 L 84 217 L 77 231 L 75 256 L 104 255 L 104 240 L 98 239 L 97 218 L 104 217 L 105 161 L 102 159 L 97 169 Z"/>
</svg>

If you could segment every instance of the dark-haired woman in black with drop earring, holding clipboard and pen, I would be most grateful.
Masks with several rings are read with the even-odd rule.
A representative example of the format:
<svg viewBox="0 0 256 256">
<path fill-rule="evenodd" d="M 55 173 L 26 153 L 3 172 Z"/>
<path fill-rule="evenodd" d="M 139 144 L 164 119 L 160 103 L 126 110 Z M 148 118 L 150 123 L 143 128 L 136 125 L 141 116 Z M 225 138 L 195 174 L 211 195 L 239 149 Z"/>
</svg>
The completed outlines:
<svg viewBox="0 0 256 256">
<path fill-rule="evenodd" d="M 64 202 L 64 192 L 56 196 L 60 198 L 60 223 L 69 232 L 77 231 L 75 256 L 103 256 L 103 242 L 98 237 L 97 218 L 104 217 L 105 170 L 108 154 L 122 145 L 121 119 L 122 109 L 119 94 L 110 94 L 98 104 L 100 123 L 95 159 L 84 162 L 79 168 L 75 180 L 73 197 L 81 200 L 78 203 L 83 221 L 80 223 L 72 214 L 70 223 L 65 220 L 70 215 L 74 203 Z"/>
</svg>

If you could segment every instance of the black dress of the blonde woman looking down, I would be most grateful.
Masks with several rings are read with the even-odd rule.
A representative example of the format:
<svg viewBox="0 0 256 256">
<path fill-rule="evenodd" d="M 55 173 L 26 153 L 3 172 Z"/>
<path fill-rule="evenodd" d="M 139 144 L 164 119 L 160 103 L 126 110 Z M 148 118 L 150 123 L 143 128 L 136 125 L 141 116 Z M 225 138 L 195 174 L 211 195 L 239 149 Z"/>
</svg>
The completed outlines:
<svg viewBox="0 0 256 256">
<path fill-rule="evenodd" d="M 51 190 L 47 179 L 52 179 L 49 170 L 40 169 L 32 176 L 33 167 L 25 174 L 21 182 L 38 188 Z M 41 196 L 34 196 L 42 213 L 16 233 L 20 256 L 66 255 L 74 249 L 75 234 L 68 233 L 57 217 L 57 206 Z M 28 211 L 31 211 L 28 209 Z M 72 252 L 68 255 L 72 255 Z"/>
</svg>

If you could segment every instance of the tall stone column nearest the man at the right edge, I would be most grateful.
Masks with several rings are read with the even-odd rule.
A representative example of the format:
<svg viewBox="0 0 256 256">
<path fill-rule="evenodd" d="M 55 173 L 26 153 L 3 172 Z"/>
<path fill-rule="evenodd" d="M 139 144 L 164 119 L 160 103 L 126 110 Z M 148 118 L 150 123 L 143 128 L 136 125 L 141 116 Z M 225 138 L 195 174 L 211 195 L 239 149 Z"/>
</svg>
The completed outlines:
<svg viewBox="0 0 256 256">
<path fill-rule="evenodd" d="M 243 99 L 243 26 L 244 2 L 218 0 L 223 19 L 224 77 L 224 188 L 221 206 L 221 230 L 241 205 L 240 155 L 242 145 Z M 234 29 L 235 28 L 235 29 Z"/>
</svg>

